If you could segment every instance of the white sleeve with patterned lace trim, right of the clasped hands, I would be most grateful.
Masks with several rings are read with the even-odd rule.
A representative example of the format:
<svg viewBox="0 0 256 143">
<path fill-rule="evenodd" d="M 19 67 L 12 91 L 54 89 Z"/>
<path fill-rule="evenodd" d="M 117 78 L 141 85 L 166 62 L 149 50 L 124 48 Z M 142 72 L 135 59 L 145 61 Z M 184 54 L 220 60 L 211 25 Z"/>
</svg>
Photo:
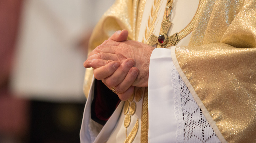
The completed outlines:
<svg viewBox="0 0 256 143">
<path fill-rule="evenodd" d="M 171 50 L 151 54 L 148 81 L 149 142 L 219 143 L 176 70 Z"/>
</svg>

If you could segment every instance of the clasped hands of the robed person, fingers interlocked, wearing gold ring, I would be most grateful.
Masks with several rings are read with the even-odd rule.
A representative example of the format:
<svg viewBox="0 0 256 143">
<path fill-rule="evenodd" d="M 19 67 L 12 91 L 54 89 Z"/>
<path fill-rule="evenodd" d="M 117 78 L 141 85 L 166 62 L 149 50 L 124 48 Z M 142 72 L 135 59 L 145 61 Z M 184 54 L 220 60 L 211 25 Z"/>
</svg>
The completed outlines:
<svg viewBox="0 0 256 143">
<path fill-rule="evenodd" d="M 97 46 L 84 62 L 94 68 L 94 77 L 109 88 L 115 87 L 121 100 L 128 100 L 134 86 L 148 86 L 149 59 L 154 47 L 127 40 L 128 31 L 115 32 Z"/>
</svg>

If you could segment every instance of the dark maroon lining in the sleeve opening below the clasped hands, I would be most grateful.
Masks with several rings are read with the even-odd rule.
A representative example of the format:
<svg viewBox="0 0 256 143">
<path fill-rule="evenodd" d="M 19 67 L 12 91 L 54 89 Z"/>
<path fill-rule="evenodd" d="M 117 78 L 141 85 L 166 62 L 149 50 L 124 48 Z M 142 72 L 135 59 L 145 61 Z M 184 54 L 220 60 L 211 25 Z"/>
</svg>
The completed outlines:
<svg viewBox="0 0 256 143">
<path fill-rule="evenodd" d="M 101 80 L 95 80 L 94 99 L 91 106 L 91 118 L 104 125 L 120 103 L 118 96 L 108 89 Z"/>
</svg>

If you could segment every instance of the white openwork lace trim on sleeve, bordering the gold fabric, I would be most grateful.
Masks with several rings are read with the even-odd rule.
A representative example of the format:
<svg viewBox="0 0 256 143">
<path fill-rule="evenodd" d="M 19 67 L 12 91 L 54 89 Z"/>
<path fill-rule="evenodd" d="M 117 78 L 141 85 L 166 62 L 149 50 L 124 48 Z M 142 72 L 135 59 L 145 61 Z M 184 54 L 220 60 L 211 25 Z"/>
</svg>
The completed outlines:
<svg viewBox="0 0 256 143">
<path fill-rule="evenodd" d="M 220 143 L 173 63 L 171 76 L 174 87 L 175 117 L 178 123 L 177 142 Z"/>
</svg>

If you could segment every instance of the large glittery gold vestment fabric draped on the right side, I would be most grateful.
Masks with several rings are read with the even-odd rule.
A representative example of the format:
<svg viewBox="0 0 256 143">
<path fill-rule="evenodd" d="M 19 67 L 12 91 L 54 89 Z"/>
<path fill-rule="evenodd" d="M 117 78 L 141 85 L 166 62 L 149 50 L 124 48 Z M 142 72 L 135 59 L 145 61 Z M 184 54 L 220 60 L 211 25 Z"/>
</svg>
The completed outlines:
<svg viewBox="0 0 256 143">
<path fill-rule="evenodd" d="M 177 70 L 222 142 L 256 142 L 255 47 L 255 0 L 205 0 L 189 46 L 175 49 Z"/>
</svg>

